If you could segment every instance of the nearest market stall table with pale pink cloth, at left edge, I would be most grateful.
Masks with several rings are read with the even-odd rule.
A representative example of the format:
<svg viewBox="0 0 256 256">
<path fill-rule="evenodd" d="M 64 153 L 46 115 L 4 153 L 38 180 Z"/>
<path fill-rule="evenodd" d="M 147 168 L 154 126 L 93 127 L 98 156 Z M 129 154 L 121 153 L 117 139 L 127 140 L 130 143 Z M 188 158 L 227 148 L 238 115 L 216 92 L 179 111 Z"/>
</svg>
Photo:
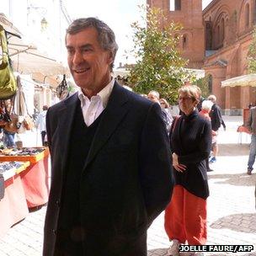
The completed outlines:
<svg viewBox="0 0 256 256">
<path fill-rule="evenodd" d="M 4 196 L 0 200 L 0 237 L 3 237 L 10 227 L 22 221 L 28 215 L 29 209 L 26 203 L 24 187 L 19 173 L 29 166 L 29 162 L 17 162 L 16 166 L 6 168 L 12 163 L 0 163 L 0 173 L 4 179 Z"/>
</svg>

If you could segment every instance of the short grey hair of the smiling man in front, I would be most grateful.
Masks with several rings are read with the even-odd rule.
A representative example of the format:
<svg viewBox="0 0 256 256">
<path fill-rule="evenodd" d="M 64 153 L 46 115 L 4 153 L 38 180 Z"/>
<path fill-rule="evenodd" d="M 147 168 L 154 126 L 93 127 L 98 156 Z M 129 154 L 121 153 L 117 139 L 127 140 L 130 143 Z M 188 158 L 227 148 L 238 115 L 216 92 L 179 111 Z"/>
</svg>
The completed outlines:
<svg viewBox="0 0 256 256">
<path fill-rule="evenodd" d="M 113 56 L 113 62 L 110 64 L 110 71 L 113 70 L 116 51 L 118 45 L 115 42 L 115 33 L 107 24 L 97 18 L 80 18 L 75 19 L 66 30 L 67 34 L 75 35 L 84 29 L 94 28 L 98 32 L 99 44 L 105 51 L 110 51 Z"/>
</svg>

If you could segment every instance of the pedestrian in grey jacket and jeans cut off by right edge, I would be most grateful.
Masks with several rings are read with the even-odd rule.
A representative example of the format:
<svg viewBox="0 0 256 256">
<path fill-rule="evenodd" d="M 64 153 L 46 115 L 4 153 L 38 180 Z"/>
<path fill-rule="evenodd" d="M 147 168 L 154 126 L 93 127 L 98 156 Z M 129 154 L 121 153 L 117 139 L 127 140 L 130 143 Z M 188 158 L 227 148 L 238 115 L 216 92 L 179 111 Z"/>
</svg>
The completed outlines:
<svg viewBox="0 0 256 256">
<path fill-rule="evenodd" d="M 252 133 L 247 168 L 248 175 L 251 175 L 253 172 L 253 164 L 255 162 L 256 157 L 256 107 L 250 108 L 249 117 L 245 125 L 248 128 L 248 130 Z"/>
</svg>

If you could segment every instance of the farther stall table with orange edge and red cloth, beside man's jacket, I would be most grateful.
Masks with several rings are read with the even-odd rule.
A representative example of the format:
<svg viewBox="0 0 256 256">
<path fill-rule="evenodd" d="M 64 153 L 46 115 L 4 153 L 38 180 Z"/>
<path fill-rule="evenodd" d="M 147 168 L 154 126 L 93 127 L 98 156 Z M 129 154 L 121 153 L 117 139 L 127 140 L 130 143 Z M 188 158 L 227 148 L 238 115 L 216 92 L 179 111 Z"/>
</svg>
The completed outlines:
<svg viewBox="0 0 256 256">
<path fill-rule="evenodd" d="M 20 178 L 24 187 L 24 193 L 29 208 L 45 205 L 49 196 L 48 185 L 48 156 L 47 147 L 29 148 L 33 154 L 26 154 L 28 148 L 22 148 L 16 154 L 0 155 L 0 161 L 29 161 L 30 165 L 20 173 Z M 37 152 L 40 151 L 40 152 Z"/>
</svg>

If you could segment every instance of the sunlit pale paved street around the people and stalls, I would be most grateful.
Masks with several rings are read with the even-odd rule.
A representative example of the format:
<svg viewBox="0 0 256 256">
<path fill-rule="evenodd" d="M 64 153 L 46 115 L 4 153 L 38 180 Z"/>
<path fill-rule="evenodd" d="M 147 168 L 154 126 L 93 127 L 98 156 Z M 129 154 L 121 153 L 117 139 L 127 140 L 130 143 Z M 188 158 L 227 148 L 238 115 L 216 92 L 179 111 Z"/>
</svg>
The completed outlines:
<svg viewBox="0 0 256 256">
<path fill-rule="evenodd" d="M 225 116 L 224 120 L 227 123 L 227 131 L 220 132 L 220 156 L 217 157 L 217 162 L 211 165 L 214 172 L 209 173 L 211 195 L 208 199 L 207 244 L 251 244 L 254 248 L 251 253 L 205 253 L 205 255 L 256 256 L 254 198 L 256 172 L 251 176 L 246 174 L 249 136 L 243 135 L 243 144 L 238 143 L 236 130 L 237 125 L 242 124 L 242 117 Z M 28 141 L 32 136 L 33 134 L 29 135 Z M 24 221 L 12 227 L 8 234 L 0 239 L 0 256 L 41 255 L 44 217 L 45 206 L 38 211 L 30 212 Z M 168 247 L 162 214 L 149 229 L 148 255 L 167 255 Z"/>
</svg>

